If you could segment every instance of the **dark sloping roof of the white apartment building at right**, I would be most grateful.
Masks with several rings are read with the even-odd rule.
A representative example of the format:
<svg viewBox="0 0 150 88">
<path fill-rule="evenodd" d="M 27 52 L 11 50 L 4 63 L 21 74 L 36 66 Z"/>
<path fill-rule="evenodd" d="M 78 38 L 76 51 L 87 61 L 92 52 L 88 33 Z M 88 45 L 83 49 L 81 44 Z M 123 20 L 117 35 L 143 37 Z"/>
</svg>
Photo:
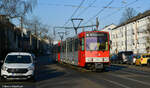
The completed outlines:
<svg viewBox="0 0 150 88">
<path fill-rule="evenodd" d="M 126 22 L 120 24 L 119 26 L 115 27 L 114 29 L 119 28 L 119 27 L 124 26 L 124 25 L 129 24 L 129 23 L 132 23 L 134 21 L 137 21 L 137 20 L 142 19 L 142 18 L 147 17 L 147 16 L 150 16 L 150 10 L 147 10 L 144 13 L 139 13 L 137 16 L 127 20 Z"/>
</svg>

